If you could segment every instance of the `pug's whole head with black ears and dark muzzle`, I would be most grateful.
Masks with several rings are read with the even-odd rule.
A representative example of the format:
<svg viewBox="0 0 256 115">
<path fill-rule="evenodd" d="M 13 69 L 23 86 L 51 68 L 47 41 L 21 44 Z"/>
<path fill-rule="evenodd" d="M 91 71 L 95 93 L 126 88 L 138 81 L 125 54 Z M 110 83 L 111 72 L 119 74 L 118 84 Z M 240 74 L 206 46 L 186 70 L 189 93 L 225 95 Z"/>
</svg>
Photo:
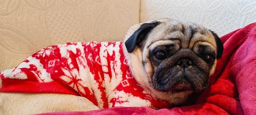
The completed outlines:
<svg viewBox="0 0 256 115">
<path fill-rule="evenodd" d="M 142 87 L 174 104 L 208 87 L 223 52 L 214 32 L 168 18 L 133 25 L 125 48 L 128 64 Z"/>
</svg>

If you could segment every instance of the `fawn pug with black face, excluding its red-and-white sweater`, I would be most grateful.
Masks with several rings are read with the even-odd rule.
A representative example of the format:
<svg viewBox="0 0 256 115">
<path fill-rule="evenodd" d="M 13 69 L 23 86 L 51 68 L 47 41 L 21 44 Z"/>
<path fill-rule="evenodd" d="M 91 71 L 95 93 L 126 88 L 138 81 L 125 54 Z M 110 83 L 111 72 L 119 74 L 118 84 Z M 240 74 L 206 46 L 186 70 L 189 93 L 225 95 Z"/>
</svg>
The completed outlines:
<svg viewBox="0 0 256 115">
<path fill-rule="evenodd" d="M 201 25 L 162 18 L 132 25 L 122 49 L 138 84 L 154 99 L 178 105 L 209 86 L 223 44 Z M 0 92 L 0 102 L 1 115 L 100 109 L 85 97 L 57 93 Z"/>
</svg>

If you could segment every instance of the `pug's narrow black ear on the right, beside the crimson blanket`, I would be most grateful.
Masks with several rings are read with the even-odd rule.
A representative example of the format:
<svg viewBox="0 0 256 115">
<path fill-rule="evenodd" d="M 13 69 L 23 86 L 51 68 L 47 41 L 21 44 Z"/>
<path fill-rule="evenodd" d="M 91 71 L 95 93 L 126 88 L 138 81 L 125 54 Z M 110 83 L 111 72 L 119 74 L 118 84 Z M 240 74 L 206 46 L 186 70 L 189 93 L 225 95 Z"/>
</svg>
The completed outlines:
<svg viewBox="0 0 256 115">
<path fill-rule="evenodd" d="M 215 38 L 216 44 L 217 44 L 217 56 L 216 57 L 218 59 L 222 56 L 222 53 L 223 53 L 223 50 L 224 50 L 223 43 L 222 43 L 220 37 L 218 37 L 215 32 L 213 32 L 211 30 L 210 30 L 210 32 L 212 32 L 212 34 Z"/>
</svg>

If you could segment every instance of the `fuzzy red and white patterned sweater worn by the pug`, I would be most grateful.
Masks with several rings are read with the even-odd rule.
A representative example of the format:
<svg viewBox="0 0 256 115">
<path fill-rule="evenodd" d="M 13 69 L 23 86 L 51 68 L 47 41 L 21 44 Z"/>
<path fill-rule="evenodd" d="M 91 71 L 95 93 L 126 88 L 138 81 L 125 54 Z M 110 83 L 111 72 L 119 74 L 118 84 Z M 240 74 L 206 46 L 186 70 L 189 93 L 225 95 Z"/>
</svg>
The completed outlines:
<svg viewBox="0 0 256 115">
<path fill-rule="evenodd" d="M 2 71 L 0 92 L 63 93 L 86 97 L 99 108 L 170 108 L 154 99 L 132 76 L 123 42 L 48 46 L 13 69 Z"/>
</svg>

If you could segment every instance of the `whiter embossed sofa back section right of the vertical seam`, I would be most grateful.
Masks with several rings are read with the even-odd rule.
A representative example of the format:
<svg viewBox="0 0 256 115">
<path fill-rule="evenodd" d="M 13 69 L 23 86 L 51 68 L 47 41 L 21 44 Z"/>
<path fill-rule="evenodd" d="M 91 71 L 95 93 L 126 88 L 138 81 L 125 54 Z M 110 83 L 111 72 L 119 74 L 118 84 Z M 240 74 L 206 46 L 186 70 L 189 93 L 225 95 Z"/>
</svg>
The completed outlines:
<svg viewBox="0 0 256 115">
<path fill-rule="evenodd" d="M 141 0 L 141 22 L 166 17 L 193 21 L 223 36 L 256 22 L 256 0 Z"/>
</svg>

